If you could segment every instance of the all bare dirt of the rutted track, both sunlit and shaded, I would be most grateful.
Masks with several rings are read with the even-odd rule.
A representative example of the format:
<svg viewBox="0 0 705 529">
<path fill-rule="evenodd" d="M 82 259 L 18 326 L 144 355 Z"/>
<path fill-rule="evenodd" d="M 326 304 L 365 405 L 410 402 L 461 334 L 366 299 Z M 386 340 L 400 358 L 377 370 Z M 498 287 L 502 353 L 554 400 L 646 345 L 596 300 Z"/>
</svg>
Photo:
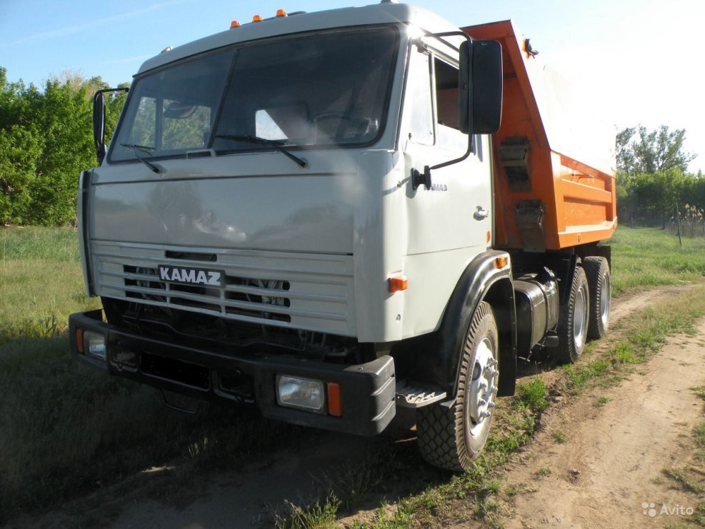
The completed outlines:
<svg viewBox="0 0 705 529">
<path fill-rule="evenodd" d="M 662 288 L 614 300 L 613 325 L 685 288 Z M 664 470 L 685 464 L 692 452 L 692 427 L 704 418 L 703 401 L 689 389 L 705 384 L 705 322 L 697 330 L 696 336 L 671 339 L 619 386 L 557 399 L 541 419 L 539 433 L 506 469 L 507 486 L 515 488 L 516 494 L 507 500 L 502 523 L 510 528 L 606 528 L 664 527 L 682 521 L 674 509 L 694 508 L 698 498 L 672 488 Z M 544 376 L 550 383 L 558 374 L 549 371 Z M 389 445 L 384 438 L 316 432 L 304 445 L 253 460 L 244 468 L 181 480 L 174 487 L 177 493 L 166 502 L 164 495 L 149 498 L 154 498 L 155 483 L 171 486 L 169 478 L 146 485 L 140 481 L 139 490 L 125 483 L 96 496 L 90 512 L 84 506 L 69 505 L 41 519 L 16 520 L 10 527 L 269 527 L 286 501 L 305 503 L 320 492 L 321 484 L 325 488 L 327 474 L 360 465 L 371 455 L 389 450 Z M 394 450 L 414 452 L 413 443 L 406 445 Z M 394 480 L 409 482 L 413 476 L 422 489 L 426 483 L 448 478 L 421 463 L 417 455 L 411 458 L 411 466 L 382 484 L 388 498 L 396 497 L 399 485 Z M 184 490 L 194 493 L 184 494 Z M 404 495 L 413 490 L 405 483 L 398 491 Z M 664 505 L 671 514 L 661 514 Z M 353 523 L 358 516 L 351 513 L 345 523 Z"/>
</svg>

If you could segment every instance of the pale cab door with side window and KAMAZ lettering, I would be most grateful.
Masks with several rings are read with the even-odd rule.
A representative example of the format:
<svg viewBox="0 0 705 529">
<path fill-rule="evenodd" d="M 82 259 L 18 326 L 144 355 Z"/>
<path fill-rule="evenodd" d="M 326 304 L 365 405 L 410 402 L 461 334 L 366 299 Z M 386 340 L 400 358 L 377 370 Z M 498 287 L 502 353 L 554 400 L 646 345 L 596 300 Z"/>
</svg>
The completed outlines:
<svg viewBox="0 0 705 529">
<path fill-rule="evenodd" d="M 441 43 L 438 43 L 441 44 Z M 411 46 L 400 145 L 406 174 L 461 158 L 469 136 L 459 130 L 457 51 Z M 487 136 L 475 136 L 463 161 L 431 170 L 431 186 L 407 189 L 407 255 L 455 252 L 469 261 L 490 246 L 491 153 Z"/>
</svg>

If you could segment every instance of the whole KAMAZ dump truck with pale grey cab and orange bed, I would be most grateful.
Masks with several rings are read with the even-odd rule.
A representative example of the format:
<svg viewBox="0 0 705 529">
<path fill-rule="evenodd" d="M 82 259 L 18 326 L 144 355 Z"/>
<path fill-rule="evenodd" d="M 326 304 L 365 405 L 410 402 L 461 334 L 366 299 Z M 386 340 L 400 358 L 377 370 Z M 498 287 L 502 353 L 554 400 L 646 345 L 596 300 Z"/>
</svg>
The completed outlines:
<svg viewBox="0 0 705 529">
<path fill-rule="evenodd" d="M 415 408 L 467 468 L 517 358 L 609 321 L 614 131 L 510 21 L 279 12 L 146 61 L 81 174 L 71 348 L 114 376 L 361 435 Z M 581 106 L 590 106 L 582 101 Z"/>
</svg>

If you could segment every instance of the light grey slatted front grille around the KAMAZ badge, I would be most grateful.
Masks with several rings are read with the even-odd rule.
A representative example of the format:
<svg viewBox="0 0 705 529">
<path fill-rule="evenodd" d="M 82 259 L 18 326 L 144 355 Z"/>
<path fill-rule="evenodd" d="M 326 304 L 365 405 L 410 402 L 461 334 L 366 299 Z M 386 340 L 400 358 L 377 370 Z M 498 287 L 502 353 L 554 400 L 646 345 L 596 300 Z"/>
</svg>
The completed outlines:
<svg viewBox="0 0 705 529">
<path fill-rule="evenodd" d="M 249 323 L 354 336 L 351 256 L 93 243 L 99 294 Z M 211 253 L 207 253 L 207 252 Z M 199 256 L 212 258 L 199 258 Z M 204 261 L 210 261 L 204 263 Z M 217 268 L 221 287 L 163 281 L 159 265 Z"/>
</svg>

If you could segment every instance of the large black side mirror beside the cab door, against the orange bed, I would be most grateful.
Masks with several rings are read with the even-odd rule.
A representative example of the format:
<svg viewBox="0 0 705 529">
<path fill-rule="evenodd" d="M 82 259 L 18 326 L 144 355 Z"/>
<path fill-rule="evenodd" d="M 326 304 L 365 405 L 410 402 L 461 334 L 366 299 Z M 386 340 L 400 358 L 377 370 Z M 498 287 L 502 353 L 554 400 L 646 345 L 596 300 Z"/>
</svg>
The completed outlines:
<svg viewBox="0 0 705 529">
<path fill-rule="evenodd" d="M 472 42 L 472 132 L 494 134 L 502 119 L 502 48 L 498 41 Z"/>
</svg>

